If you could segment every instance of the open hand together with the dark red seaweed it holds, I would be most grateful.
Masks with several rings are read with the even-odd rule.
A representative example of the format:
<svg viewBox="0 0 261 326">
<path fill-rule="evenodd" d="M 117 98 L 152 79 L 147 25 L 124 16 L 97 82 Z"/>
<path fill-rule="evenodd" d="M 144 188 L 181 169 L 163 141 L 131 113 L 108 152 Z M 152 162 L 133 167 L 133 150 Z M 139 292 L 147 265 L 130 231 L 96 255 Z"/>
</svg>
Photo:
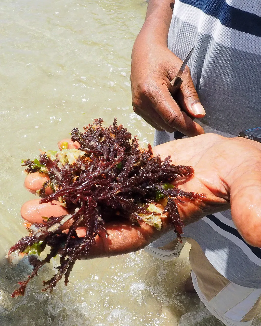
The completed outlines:
<svg viewBox="0 0 261 326">
<path fill-rule="evenodd" d="M 106 146 L 103 130 L 111 142 Z M 41 252 L 46 245 L 51 252 L 43 260 L 30 256 L 34 271 L 28 280 L 20 282 L 20 289 L 13 296 L 23 294 L 28 281 L 56 253 L 60 255 L 60 266 L 57 274 L 44 282 L 44 290 L 52 290 L 63 275 L 67 284 L 76 259 L 139 250 L 166 230 L 173 229 L 179 235 L 182 224 L 230 206 L 233 221 L 244 239 L 261 246 L 259 143 L 205 134 L 156 146 L 152 155 L 150 147 L 148 151 L 140 150 L 135 138 L 130 141 L 130 134 L 123 141 L 127 134 L 116 122 L 104 128 L 96 120 L 96 125 L 85 127 L 85 133 L 74 129 L 74 142 L 60 142 L 61 153 L 49 151 L 39 161 L 25 161 L 28 172 L 32 172 L 25 185 L 43 199 L 23 205 L 21 214 L 30 222 L 30 234 L 14 245 L 10 253 Z M 100 135 L 98 142 L 94 135 Z M 88 146 L 84 145 L 86 142 Z M 119 144 L 128 153 L 125 158 Z M 85 153 L 82 156 L 76 155 L 79 151 L 66 151 L 79 146 Z M 82 166 L 83 159 L 86 166 Z M 99 169 L 95 169 L 97 164 L 93 162 Z M 66 168 L 68 164 L 72 169 Z M 73 178 L 69 177 L 72 171 Z M 83 204 L 79 205 L 79 200 Z"/>
</svg>

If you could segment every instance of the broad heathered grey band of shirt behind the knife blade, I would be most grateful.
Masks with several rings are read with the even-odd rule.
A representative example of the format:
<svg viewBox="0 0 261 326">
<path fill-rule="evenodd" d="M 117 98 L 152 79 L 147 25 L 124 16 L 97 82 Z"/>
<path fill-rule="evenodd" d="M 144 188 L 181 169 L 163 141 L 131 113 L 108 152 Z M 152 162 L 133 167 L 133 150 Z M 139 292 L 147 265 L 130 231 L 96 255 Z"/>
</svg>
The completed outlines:
<svg viewBox="0 0 261 326">
<path fill-rule="evenodd" d="M 234 135 L 260 126 L 261 56 L 218 44 L 175 17 L 169 31 L 169 49 L 184 58 L 194 44 L 188 66 L 206 110 L 201 122 Z"/>
</svg>

